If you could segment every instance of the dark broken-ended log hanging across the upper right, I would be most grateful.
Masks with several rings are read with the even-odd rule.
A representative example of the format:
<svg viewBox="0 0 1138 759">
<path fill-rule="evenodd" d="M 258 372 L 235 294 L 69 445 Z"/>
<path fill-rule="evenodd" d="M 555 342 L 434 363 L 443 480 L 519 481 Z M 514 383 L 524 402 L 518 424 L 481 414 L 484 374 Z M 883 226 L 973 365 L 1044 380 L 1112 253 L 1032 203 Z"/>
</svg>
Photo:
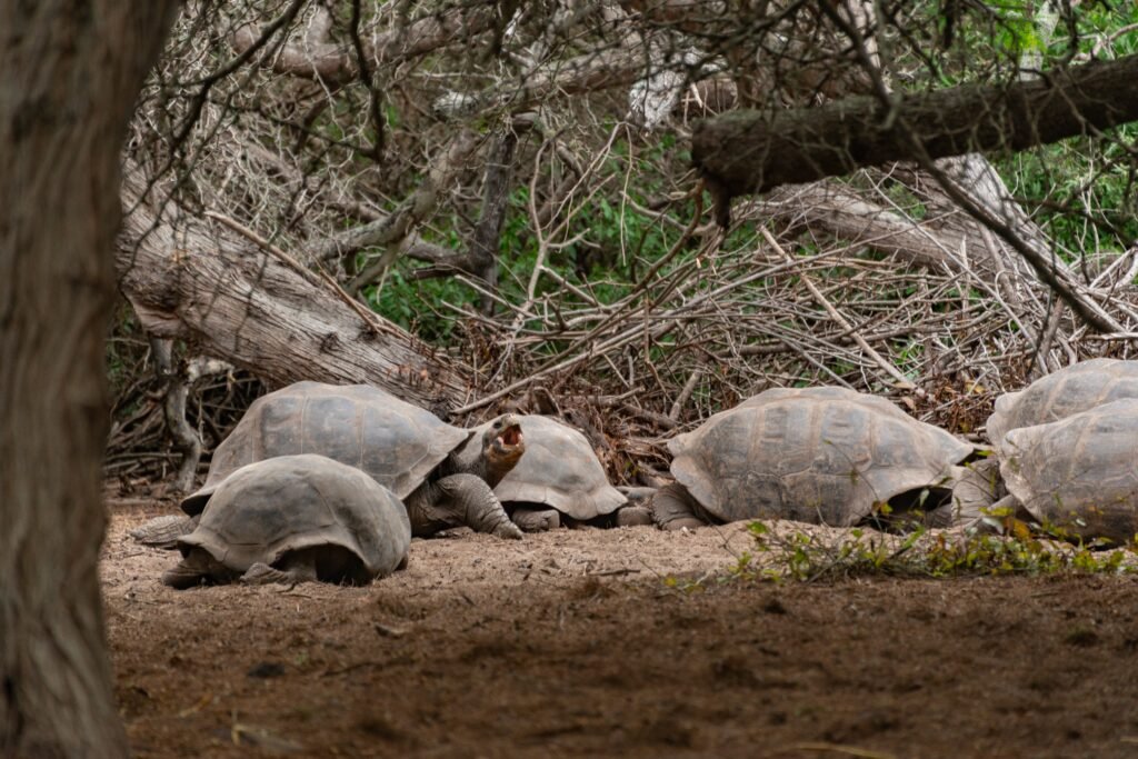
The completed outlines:
<svg viewBox="0 0 1138 759">
<path fill-rule="evenodd" d="M 1006 85 L 868 97 L 700 122 L 692 159 L 726 199 L 892 160 L 1024 150 L 1138 119 L 1138 56 Z"/>
</svg>

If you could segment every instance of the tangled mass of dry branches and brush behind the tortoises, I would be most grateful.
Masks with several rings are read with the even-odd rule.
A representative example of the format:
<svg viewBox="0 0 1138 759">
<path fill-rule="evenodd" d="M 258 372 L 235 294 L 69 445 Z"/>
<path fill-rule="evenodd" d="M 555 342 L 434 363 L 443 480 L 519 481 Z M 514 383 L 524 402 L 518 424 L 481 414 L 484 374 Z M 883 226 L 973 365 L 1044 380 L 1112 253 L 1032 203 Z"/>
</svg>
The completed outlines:
<svg viewBox="0 0 1138 759">
<path fill-rule="evenodd" d="M 189 3 L 130 154 L 147 203 L 240 230 L 249 256 L 327 274 L 440 352 L 465 388 L 439 411 L 560 413 L 618 482 L 651 480 L 666 437 L 770 386 L 889 394 L 976 434 L 1026 378 L 1129 355 L 1128 127 L 782 187 L 736 200 L 728 229 L 687 155 L 693 119 L 719 110 L 889 102 L 1138 47 L 1094 9 L 940 5 Z M 183 335 L 180 355 L 218 353 L 200 325 Z M 108 465 L 159 477 L 163 381 L 131 339 Z M 221 385 L 191 393 L 207 448 L 259 389 Z"/>
</svg>

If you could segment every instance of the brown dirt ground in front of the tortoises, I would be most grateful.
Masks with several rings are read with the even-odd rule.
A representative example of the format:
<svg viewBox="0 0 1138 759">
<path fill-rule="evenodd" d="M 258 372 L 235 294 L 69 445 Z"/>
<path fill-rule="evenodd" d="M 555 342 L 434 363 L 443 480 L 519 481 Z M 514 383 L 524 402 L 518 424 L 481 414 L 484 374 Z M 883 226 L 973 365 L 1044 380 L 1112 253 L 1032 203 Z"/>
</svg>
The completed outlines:
<svg viewBox="0 0 1138 759">
<path fill-rule="evenodd" d="M 637 527 L 176 592 L 168 511 L 102 562 L 139 757 L 1138 757 L 1135 577 L 724 583 L 741 527 Z"/>
</svg>

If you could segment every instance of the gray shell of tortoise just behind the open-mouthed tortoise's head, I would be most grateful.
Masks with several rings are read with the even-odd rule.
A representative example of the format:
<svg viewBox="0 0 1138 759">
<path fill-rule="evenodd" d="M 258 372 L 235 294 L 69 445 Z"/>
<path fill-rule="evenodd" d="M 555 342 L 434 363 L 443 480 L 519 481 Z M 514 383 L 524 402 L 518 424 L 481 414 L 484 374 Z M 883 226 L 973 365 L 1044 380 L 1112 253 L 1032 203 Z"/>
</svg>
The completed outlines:
<svg viewBox="0 0 1138 759">
<path fill-rule="evenodd" d="M 609 484 L 593 446 L 579 431 L 550 416 L 521 419 L 526 455 L 494 488 L 502 503 L 539 503 L 574 519 L 609 514 L 627 498 Z M 475 429 L 476 445 L 490 422 Z"/>
</svg>

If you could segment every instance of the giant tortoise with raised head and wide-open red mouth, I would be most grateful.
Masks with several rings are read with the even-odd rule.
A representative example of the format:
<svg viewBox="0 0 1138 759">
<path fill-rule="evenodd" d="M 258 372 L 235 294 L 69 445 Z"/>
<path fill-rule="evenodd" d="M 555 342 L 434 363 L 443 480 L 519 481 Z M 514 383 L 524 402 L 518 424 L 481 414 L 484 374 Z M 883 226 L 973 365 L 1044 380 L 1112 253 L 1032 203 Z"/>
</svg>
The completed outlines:
<svg viewBox="0 0 1138 759">
<path fill-rule="evenodd" d="M 475 432 L 368 385 L 296 382 L 257 398 L 217 446 L 206 482 L 182 501 L 191 518 L 245 464 L 275 456 L 316 453 L 355 467 L 390 488 L 406 504 L 412 534 L 469 526 L 479 533 L 520 538 L 492 488 L 526 449 L 513 414 Z M 471 440 L 473 445 L 463 445 Z M 134 531 L 149 545 L 172 545 L 191 520 L 155 520 Z"/>
</svg>

